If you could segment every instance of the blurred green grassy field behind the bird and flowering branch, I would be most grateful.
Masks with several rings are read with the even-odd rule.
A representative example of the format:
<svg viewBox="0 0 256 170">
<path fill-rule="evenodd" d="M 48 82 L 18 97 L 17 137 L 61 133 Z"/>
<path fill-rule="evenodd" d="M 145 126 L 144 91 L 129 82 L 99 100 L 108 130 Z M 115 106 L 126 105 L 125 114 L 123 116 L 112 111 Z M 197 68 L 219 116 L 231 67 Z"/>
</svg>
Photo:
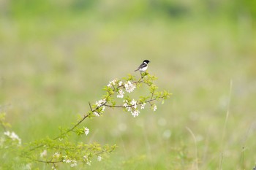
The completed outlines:
<svg viewBox="0 0 256 170">
<path fill-rule="evenodd" d="M 0 15 L 0 109 L 23 143 L 56 136 L 148 59 L 173 96 L 86 120 L 78 140 L 118 145 L 86 169 L 255 166 L 256 1 L 1 0 Z"/>
</svg>

